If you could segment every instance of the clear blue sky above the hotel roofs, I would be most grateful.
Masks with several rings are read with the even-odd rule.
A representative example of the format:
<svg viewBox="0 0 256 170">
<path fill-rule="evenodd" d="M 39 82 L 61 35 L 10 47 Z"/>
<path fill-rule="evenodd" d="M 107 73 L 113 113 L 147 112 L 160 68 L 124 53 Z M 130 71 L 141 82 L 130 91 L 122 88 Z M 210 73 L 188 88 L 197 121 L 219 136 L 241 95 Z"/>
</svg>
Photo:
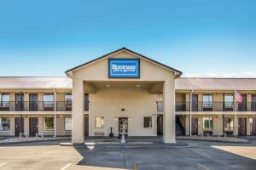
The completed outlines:
<svg viewBox="0 0 256 170">
<path fill-rule="evenodd" d="M 0 76 L 65 76 L 131 48 L 196 77 L 256 77 L 256 1 L 1 1 Z"/>
</svg>

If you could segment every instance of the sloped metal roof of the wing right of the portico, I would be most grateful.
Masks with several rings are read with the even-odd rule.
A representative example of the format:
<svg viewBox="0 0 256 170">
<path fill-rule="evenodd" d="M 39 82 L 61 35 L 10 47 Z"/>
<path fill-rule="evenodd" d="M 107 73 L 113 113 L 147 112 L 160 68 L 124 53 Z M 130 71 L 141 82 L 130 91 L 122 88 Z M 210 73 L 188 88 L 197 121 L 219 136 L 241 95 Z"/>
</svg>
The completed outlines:
<svg viewBox="0 0 256 170">
<path fill-rule="evenodd" d="M 256 90 L 256 78 L 180 77 L 176 90 Z"/>
</svg>

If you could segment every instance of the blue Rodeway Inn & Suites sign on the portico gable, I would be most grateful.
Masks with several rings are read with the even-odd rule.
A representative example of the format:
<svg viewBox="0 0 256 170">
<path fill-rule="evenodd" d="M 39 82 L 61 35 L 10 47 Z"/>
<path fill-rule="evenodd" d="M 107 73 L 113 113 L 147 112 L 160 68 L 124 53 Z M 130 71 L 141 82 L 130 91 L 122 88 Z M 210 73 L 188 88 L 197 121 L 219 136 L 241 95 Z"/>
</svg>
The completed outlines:
<svg viewBox="0 0 256 170">
<path fill-rule="evenodd" d="M 140 59 L 108 59 L 109 78 L 139 78 Z"/>
</svg>

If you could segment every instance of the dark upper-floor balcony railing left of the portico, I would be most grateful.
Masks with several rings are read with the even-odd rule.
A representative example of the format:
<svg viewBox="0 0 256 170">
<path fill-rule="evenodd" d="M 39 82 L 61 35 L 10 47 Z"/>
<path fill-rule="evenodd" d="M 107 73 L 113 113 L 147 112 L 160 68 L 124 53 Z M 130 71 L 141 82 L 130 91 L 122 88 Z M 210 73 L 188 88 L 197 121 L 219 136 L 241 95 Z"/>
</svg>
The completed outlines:
<svg viewBox="0 0 256 170">
<path fill-rule="evenodd" d="M 0 111 L 72 111 L 71 101 L 5 101 L 0 102 Z"/>
</svg>

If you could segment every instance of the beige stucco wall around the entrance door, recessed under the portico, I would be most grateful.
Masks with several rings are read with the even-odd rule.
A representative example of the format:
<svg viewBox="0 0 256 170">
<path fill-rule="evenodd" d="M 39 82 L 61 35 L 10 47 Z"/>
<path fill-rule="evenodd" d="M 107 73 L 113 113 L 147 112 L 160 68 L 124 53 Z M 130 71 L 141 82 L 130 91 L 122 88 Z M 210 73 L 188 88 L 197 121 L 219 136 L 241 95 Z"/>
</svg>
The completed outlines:
<svg viewBox="0 0 256 170">
<path fill-rule="evenodd" d="M 103 132 L 106 136 L 113 127 L 118 136 L 118 121 L 114 117 L 130 117 L 128 122 L 129 136 L 156 136 L 156 94 L 149 94 L 141 88 L 100 88 L 96 94 L 90 94 L 89 135 Z M 121 111 L 125 109 L 125 111 Z M 104 127 L 95 127 L 95 117 L 104 117 Z M 143 117 L 152 117 L 152 128 L 143 127 Z"/>
</svg>

